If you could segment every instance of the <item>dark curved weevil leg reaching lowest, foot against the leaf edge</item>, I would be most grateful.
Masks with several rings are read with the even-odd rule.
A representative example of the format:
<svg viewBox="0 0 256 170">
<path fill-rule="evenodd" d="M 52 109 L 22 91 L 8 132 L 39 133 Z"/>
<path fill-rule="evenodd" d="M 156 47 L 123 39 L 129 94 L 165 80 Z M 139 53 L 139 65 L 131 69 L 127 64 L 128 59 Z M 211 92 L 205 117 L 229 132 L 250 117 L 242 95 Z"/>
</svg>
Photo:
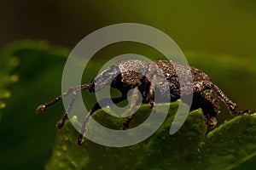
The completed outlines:
<svg viewBox="0 0 256 170">
<path fill-rule="evenodd" d="M 106 106 L 111 106 L 113 104 L 118 104 L 119 102 L 123 101 L 127 99 L 125 95 L 122 95 L 119 98 L 113 98 L 113 99 L 101 99 L 99 102 L 97 102 L 93 108 L 89 111 L 89 113 L 87 114 L 87 116 L 84 119 L 83 125 L 80 129 L 80 134 L 79 134 L 79 138 L 78 138 L 78 144 L 82 144 L 83 138 L 84 138 L 84 133 L 86 133 L 86 126 L 87 123 L 89 122 L 90 116 L 92 116 L 95 111 L 102 109 L 102 107 L 106 107 Z M 101 105 L 100 105 L 101 104 Z"/>
</svg>

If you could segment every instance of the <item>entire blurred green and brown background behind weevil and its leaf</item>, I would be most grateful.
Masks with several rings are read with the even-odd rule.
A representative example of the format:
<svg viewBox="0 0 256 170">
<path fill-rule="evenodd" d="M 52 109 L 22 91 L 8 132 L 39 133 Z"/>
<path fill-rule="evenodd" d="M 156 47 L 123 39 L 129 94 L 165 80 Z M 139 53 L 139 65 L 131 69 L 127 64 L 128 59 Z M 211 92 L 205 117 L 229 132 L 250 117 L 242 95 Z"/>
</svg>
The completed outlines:
<svg viewBox="0 0 256 170">
<path fill-rule="evenodd" d="M 4 86 L 12 96 L 4 100 L 6 107 L 0 110 L 1 169 L 44 168 L 55 140 L 54 125 L 63 109 L 56 105 L 46 114 L 37 115 L 35 108 L 61 94 L 61 72 L 69 49 L 103 26 L 134 22 L 164 31 L 177 42 L 189 63 L 207 72 L 240 110 L 255 108 L 256 2 L 252 0 L 96 3 L 0 0 L 0 21 L 0 48 L 24 38 L 64 47 L 26 41 L 3 49 L 0 75 L 17 74 L 19 81 Z M 104 48 L 95 60 L 101 59 L 103 64 L 104 59 L 127 52 L 158 54 L 136 43 L 126 45 Z M 19 60 L 19 65 L 3 72 L 4 59 L 12 63 L 9 61 L 12 57 Z M 96 71 L 84 82 L 94 76 Z M 228 113 L 219 119 L 227 117 Z M 253 165 L 255 160 L 249 164 Z"/>
</svg>

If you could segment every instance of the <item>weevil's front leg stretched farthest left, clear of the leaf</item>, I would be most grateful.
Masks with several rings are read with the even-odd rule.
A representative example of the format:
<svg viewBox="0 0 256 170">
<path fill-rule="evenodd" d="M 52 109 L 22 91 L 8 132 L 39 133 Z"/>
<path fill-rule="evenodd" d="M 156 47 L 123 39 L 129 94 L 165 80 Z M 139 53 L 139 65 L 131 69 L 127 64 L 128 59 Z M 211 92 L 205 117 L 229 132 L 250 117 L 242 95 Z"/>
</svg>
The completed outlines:
<svg viewBox="0 0 256 170">
<path fill-rule="evenodd" d="M 67 89 L 66 92 L 64 92 L 60 96 L 56 97 L 55 99 L 49 101 L 48 103 L 39 105 L 37 108 L 37 112 L 40 113 L 42 111 L 45 111 L 49 106 L 55 105 L 55 103 L 61 101 L 61 99 L 63 99 L 65 96 L 67 96 L 69 94 L 72 94 L 74 91 L 76 91 L 76 92 L 83 91 L 83 90 L 90 88 L 91 86 L 92 86 L 92 83 L 89 83 L 89 84 L 83 84 L 83 85 L 79 85 L 79 86 L 76 86 L 73 88 L 69 88 L 69 89 Z"/>
</svg>

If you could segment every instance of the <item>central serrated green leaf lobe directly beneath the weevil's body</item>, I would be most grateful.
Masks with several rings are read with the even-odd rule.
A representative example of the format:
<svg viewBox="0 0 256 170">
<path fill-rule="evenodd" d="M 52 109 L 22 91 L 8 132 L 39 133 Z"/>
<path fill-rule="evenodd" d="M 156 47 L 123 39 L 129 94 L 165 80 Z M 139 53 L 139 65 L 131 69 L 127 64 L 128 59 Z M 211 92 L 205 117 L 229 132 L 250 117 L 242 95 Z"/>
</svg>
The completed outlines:
<svg viewBox="0 0 256 170">
<path fill-rule="evenodd" d="M 79 146 L 76 144 L 78 132 L 74 130 L 70 122 L 67 122 L 63 129 L 57 133 L 53 156 L 46 169 L 141 169 L 160 166 L 170 156 L 172 157 L 170 163 L 186 159 L 192 150 L 196 150 L 204 138 L 206 125 L 201 110 L 193 111 L 189 114 L 183 127 L 171 136 L 169 129 L 178 103 L 175 102 L 170 105 L 165 123 L 153 136 L 142 143 L 123 148 L 102 146 L 90 142 L 88 139 L 85 139 L 84 144 Z M 169 105 L 157 105 L 159 109 L 166 106 Z M 183 104 L 183 107 L 186 105 Z M 137 125 L 136 120 L 142 121 L 147 117 L 150 113 L 148 108 L 148 105 L 141 106 L 131 121 L 131 127 Z M 157 112 L 155 114 L 163 113 Z M 93 117 L 103 125 L 108 124 L 108 127 L 111 127 L 110 124 L 112 124 L 112 127 L 119 128 L 124 122 L 124 119 L 117 119 L 113 116 L 109 118 L 104 111 L 96 111 Z M 90 130 L 90 126 L 88 129 Z M 159 159 L 156 160 L 155 156 L 158 156 Z"/>
</svg>

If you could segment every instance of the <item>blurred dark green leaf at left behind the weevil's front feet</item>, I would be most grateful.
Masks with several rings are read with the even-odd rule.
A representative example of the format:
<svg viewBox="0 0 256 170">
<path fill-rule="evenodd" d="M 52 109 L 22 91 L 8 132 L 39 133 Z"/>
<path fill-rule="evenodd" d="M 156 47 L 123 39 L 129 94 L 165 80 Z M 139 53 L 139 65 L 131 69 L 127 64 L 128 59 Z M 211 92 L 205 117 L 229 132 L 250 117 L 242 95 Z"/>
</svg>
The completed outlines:
<svg viewBox="0 0 256 170">
<path fill-rule="evenodd" d="M 61 105 L 51 109 L 60 115 L 47 111 L 38 115 L 35 109 L 61 94 L 67 52 L 48 42 L 32 40 L 13 42 L 3 49 L 0 75 L 5 78 L 0 78 L 0 106 L 6 107 L 0 110 L 1 169 L 42 169 L 49 159 Z M 19 81 L 13 83 L 15 75 Z M 3 87 L 3 82 L 8 86 Z"/>
</svg>

